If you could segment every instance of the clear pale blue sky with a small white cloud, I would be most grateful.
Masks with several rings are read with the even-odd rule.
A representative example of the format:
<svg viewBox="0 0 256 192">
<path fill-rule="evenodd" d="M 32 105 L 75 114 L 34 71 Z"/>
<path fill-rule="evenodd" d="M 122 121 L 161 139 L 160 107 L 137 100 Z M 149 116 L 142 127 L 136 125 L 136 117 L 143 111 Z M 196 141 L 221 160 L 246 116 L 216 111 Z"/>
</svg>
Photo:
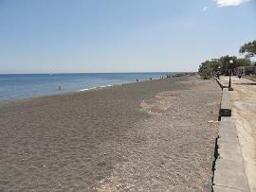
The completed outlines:
<svg viewBox="0 0 256 192">
<path fill-rule="evenodd" d="M 196 71 L 254 39 L 255 0 L 0 0 L 0 73 Z"/>
</svg>

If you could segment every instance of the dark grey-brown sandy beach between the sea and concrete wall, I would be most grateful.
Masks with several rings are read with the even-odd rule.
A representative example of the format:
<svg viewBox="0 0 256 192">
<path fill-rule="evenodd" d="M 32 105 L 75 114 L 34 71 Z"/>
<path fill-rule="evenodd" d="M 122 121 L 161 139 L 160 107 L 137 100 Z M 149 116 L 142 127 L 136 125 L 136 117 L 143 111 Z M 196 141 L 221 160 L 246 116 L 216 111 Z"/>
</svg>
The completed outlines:
<svg viewBox="0 0 256 192">
<path fill-rule="evenodd" d="M 211 191 L 220 96 L 185 76 L 2 103 L 0 191 Z"/>
</svg>

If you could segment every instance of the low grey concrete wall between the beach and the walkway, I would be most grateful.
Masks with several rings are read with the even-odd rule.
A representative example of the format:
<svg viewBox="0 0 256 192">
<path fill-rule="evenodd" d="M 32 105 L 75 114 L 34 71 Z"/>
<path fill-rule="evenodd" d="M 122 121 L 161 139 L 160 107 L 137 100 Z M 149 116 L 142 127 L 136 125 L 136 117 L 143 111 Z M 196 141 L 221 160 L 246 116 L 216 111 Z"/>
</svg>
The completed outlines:
<svg viewBox="0 0 256 192">
<path fill-rule="evenodd" d="M 217 80 L 223 89 L 220 106 L 220 124 L 216 139 L 213 173 L 214 192 L 249 191 L 244 159 L 237 129 L 231 118 L 231 99 L 227 86 Z"/>
</svg>

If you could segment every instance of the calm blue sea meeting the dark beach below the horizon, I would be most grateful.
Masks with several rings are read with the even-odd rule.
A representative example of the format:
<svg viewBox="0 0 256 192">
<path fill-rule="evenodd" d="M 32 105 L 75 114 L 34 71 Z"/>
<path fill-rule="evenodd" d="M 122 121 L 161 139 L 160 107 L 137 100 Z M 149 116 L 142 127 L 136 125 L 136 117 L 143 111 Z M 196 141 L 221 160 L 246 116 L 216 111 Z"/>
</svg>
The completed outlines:
<svg viewBox="0 0 256 192">
<path fill-rule="evenodd" d="M 136 79 L 159 79 L 166 74 L 170 73 L 2 74 L 0 101 L 81 91 Z"/>
</svg>

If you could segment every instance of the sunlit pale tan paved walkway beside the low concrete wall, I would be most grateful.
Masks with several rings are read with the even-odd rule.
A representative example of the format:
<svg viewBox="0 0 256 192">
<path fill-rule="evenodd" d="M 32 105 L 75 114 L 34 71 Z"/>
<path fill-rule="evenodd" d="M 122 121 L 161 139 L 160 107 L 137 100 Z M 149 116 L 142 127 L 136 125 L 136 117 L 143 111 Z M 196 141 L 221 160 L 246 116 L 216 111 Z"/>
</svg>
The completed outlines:
<svg viewBox="0 0 256 192">
<path fill-rule="evenodd" d="M 229 77 L 221 77 L 229 84 Z M 246 166 L 251 192 L 256 192 L 256 82 L 232 77 L 232 118 L 236 122 L 238 137 Z"/>
</svg>

